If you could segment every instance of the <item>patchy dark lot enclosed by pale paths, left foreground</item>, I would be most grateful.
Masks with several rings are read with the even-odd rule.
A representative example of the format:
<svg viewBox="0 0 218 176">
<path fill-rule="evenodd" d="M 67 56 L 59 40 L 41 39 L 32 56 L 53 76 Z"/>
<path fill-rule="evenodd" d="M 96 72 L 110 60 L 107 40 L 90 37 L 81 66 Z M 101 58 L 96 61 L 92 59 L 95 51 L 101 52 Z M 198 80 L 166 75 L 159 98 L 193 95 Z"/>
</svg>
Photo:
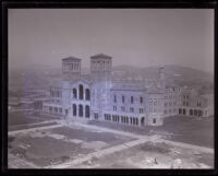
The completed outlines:
<svg viewBox="0 0 218 176">
<path fill-rule="evenodd" d="M 9 137 L 9 153 L 33 163 L 36 167 L 60 164 L 70 159 L 133 140 L 129 137 L 77 127 L 37 130 Z"/>
</svg>

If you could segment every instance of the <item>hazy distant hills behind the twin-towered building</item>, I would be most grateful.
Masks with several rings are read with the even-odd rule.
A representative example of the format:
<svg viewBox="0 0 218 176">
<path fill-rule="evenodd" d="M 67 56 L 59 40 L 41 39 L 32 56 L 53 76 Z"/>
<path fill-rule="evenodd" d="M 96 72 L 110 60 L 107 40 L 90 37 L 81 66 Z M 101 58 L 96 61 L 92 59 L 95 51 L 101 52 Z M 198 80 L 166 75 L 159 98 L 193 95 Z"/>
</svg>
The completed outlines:
<svg viewBox="0 0 218 176">
<path fill-rule="evenodd" d="M 202 90 L 211 90 L 214 77 L 211 73 L 175 64 L 164 66 L 166 82 L 187 85 Z M 88 73 L 87 68 L 82 73 Z M 61 79 L 61 68 L 48 66 L 32 66 L 9 72 L 9 89 L 13 92 L 23 92 L 29 89 L 49 89 L 49 85 Z M 140 68 L 134 66 L 116 66 L 112 68 L 112 78 L 116 80 L 146 80 L 157 79 L 158 67 Z"/>
</svg>

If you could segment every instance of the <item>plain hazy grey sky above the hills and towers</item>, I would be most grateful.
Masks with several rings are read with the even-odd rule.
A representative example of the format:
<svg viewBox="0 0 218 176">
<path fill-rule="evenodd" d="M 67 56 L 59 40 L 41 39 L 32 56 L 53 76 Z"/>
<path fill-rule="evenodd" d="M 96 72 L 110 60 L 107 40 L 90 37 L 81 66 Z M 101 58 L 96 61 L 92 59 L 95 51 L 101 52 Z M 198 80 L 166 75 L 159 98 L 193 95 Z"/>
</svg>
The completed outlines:
<svg viewBox="0 0 218 176">
<path fill-rule="evenodd" d="M 112 56 L 113 66 L 181 64 L 213 72 L 214 10 L 9 10 L 9 68 L 58 68 L 68 56 L 89 67 L 89 57 L 99 52 Z"/>
</svg>

